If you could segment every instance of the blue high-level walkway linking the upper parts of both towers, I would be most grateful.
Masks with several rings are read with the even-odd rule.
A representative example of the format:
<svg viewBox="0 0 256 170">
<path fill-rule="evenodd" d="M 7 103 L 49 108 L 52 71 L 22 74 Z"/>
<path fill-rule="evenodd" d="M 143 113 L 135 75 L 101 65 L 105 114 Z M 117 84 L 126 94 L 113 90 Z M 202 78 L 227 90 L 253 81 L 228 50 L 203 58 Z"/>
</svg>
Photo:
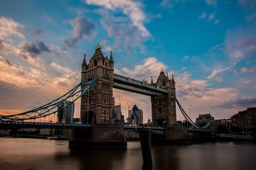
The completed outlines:
<svg viewBox="0 0 256 170">
<path fill-rule="evenodd" d="M 134 80 L 129 77 L 114 74 L 115 89 L 127 90 L 129 92 L 136 92 L 147 96 L 155 96 L 156 94 L 168 94 L 166 89 L 162 89 L 156 85 L 150 85 L 143 81 Z"/>
</svg>

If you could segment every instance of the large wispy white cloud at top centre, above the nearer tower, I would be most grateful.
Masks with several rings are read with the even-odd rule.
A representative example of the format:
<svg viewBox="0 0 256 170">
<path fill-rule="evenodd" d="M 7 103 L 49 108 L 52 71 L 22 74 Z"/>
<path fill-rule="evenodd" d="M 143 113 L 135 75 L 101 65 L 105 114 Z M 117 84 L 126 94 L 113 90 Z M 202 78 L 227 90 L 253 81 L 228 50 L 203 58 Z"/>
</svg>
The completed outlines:
<svg viewBox="0 0 256 170">
<path fill-rule="evenodd" d="M 142 10 L 142 4 L 134 1 L 86 1 L 87 4 L 102 6 L 93 11 L 100 15 L 100 24 L 113 38 L 112 48 L 122 49 L 126 52 L 140 50 L 146 53 L 143 41 L 147 41 L 151 34 L 144 23 L 152 18 L 159 18 L 161 15 L 153 16 L 146 14 Z"/>
</svg>

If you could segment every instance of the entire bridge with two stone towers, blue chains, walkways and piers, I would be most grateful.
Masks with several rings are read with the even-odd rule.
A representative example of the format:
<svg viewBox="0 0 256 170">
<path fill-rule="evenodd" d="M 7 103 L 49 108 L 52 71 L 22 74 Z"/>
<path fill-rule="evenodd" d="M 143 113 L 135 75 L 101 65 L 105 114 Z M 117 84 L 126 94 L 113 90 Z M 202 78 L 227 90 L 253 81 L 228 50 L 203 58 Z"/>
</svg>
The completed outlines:
<svg viewBox="0 0 256 170">
<path fill-rule="evenodd" d="M 113 124 L 113 89 L 120 89 L 150 96 L 152 108 L 152 127 L 124 127 Z M 26 122 L 49 117 L 63 110 L 68 104 L 81 98 L 82 125 L 52 124 Z M 69 101 L 68 103 L 66 101 Z M 191 123 L 189 132 L 210 131 L 209 124 L 198 127 L 183 110 L 175 96 L 175 80 L 168 78 L 168 74 L 161 69 L 157 81 L 139 81 L 133 78 L 114 74 L 113 53 L 104 57 L 98 44 L 93 56 L 84 60 L 81 69 L 81 82 L 63 96 L 44 104 L 36 109 L 15 115 L 0 115 L 0 128 L 12 127 L 40 127 L 40 128 L 68 128 L 72 129 L 70 145 L 86 145 L 88 143 L 121 144 L 126 147 L 124 132 L 147 131 L 154 134 L 168 136 L 175 134 L 173 130 L 176 120 L 176 103 L 182 114 Z M 61 105 L 63 104 L 63 105 Z M 61 107 L 59 107 L 61 105 Z M 63 106 L 63 107 L 62 107 Z M 179 134 L 177 132 L 177 134 Z"/>
</svg>

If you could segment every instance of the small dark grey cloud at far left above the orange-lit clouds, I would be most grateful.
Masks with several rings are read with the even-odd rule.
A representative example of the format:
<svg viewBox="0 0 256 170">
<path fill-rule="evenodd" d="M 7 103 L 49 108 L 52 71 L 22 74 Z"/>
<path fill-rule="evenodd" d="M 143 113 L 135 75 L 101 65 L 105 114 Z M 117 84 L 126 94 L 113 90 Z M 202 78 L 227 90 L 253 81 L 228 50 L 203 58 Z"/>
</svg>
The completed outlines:
<svg viewBox="0 0 256 170">
<path fill-rule="evenodd" d="M 24 50 L 24 53 L 28 53 L 31 57 L 37 57 L 42 53 L 50 52 L 49 48 L 45 45 L 45 43 L 38 40 L 31 43 L 24 43 L 24 45 L 22 45 L 22 50 Z"/>
</svg>

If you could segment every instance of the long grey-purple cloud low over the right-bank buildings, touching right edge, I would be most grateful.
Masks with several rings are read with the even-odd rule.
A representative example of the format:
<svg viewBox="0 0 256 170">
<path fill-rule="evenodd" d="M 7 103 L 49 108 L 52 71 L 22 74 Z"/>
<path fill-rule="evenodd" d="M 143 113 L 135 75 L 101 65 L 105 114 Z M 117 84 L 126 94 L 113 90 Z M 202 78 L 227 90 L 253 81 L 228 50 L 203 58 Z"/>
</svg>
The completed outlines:
<svg viewBox="0 0 256 170">
<path fill-rule="evenodd" d="M 244 99 L 235 99 L 235 100 L 229 100 L 221 103 L 220 105 L 216 106 L 216 108 L 237 108 L 237 107 L 243 107 L 248 108 L 251 106 L 255 106 L 256 104 L 256 98 L 244 98 Z"/>
</svg>

